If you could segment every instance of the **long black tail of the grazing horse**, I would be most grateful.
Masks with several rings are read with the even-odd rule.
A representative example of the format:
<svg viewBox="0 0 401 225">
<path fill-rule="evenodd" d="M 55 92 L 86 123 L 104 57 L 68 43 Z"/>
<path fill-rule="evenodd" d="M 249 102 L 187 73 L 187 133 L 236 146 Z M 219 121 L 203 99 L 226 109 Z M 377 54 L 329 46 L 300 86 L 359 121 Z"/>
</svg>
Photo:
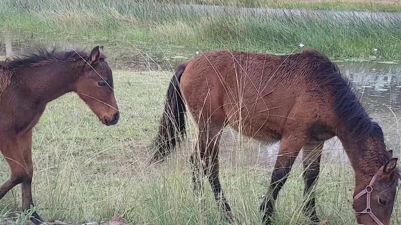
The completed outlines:
<svg viewBox="0 0 401 225">
<path fill-rule="evenodd" d="M 159 132 L 154 141 L 156 150 L 151 159 L 152 162 L 164 161 L 176 145 L 180 144 L 182 136 L 185 135 L 186 108 L 180 88 L 180 79 L 185 68 L 186 64 L 178 66 L 168 86 Z"/>
</svg>

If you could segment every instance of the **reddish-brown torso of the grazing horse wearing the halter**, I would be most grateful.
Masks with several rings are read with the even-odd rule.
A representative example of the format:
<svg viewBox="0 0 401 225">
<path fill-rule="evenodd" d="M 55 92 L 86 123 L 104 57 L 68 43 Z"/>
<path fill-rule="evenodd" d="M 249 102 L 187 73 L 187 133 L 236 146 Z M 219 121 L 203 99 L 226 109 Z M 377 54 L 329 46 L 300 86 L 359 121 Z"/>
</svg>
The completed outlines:
<svg viewBox="0 0 401 225">
<path fill-rule="evenodd" d="M 334 98 L 324 80 L 338 75 L 331 67 L 313 50 L 284 56 L 216 50 L 189 61 L 182 88 L 192 114 L 223 108 L 229 125 L 245 136 L 273 142 L 317 124 L 329 137 Z"/>
</svg>

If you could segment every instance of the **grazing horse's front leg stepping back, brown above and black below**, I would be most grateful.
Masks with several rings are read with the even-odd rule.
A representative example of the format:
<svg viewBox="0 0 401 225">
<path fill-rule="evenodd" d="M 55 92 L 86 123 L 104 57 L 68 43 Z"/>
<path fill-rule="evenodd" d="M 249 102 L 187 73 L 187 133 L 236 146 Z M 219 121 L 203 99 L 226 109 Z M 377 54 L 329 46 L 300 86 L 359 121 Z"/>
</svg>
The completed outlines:
<svg viewBox="0 0 401 225">
<path fill-rule="evenodd" d="M 291 171 L 292 165 L 300 149 L 304 145 L 304 139 L 299 136 L 289 136 L 282 139 L 279 147 L 278 156 L 274 165 L 274 170 L 271 175 L 269 191 L 265 195 L 260 205 L 260 210 L 263 213 L 262 221 L 265 224 L 270 224 L 269 218 L 273 214 L 274 204 L 278 197 L 279 191 L 287 181 L 288 174 Z"/>
</svg>

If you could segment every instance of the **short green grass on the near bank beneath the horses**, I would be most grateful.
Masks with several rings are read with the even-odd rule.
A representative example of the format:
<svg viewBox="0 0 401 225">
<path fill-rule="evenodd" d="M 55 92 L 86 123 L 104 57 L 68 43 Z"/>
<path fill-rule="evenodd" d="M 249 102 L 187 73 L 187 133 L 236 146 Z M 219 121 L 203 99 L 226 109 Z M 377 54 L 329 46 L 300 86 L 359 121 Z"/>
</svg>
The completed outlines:
<svg viewBox="0 0 401 225">
<path fill-rule="evenodd" d="M 194 200 L 187 163 L 189 143 L 176 153 L 178 157 L 172 154 L 162 165 L 146 165 L 172 72 L 115 70 L 113 74 L 122 112 L 116 126 L 101 125 L 82 100 L 66 94 L 49 103 L 35 127 L 33 195 L 38 213 L 45 219 L 73 224 L 107 221 L 113 215 L 122 215 L 130 224 L 225 224 L 207 182 L 205 207 L 198 207 Z M 188 138 L 192 139 L 191 123 L 189 128 Z M 250 151 L 245 144 L 234 145 L 238 145 L 237 154 Z M 221 182 L 235 216 L 243 224 L 259 224 L 258 202 L 271 170 L 248 166 L 241 159 L 236 162 L 239 166 L 227 158 L 221 162 Z M 280 193 L 275 224 L 307 221 L 300 211 L 304 204 L 300 168 L 294 166 Z M 8 177 L 4 159 L 0 169 L 4 181 Z M 354 224 L 352 190 L 349 166 L 322 165 L 317 185 L 320 218 L 328 219 L 329 224 Z M 395 219 L 401 217 L 400 198 L 398 195 L 395 202 L 393 224 L 401 223 Z M 10 224 L 18 216 L 20 222 L 15 224 L 27 224 L 26 217 L 11 213 L 20 209 L 20 204 L 17 186 L 0 201 L 0 221 Z"/>
</svg>

